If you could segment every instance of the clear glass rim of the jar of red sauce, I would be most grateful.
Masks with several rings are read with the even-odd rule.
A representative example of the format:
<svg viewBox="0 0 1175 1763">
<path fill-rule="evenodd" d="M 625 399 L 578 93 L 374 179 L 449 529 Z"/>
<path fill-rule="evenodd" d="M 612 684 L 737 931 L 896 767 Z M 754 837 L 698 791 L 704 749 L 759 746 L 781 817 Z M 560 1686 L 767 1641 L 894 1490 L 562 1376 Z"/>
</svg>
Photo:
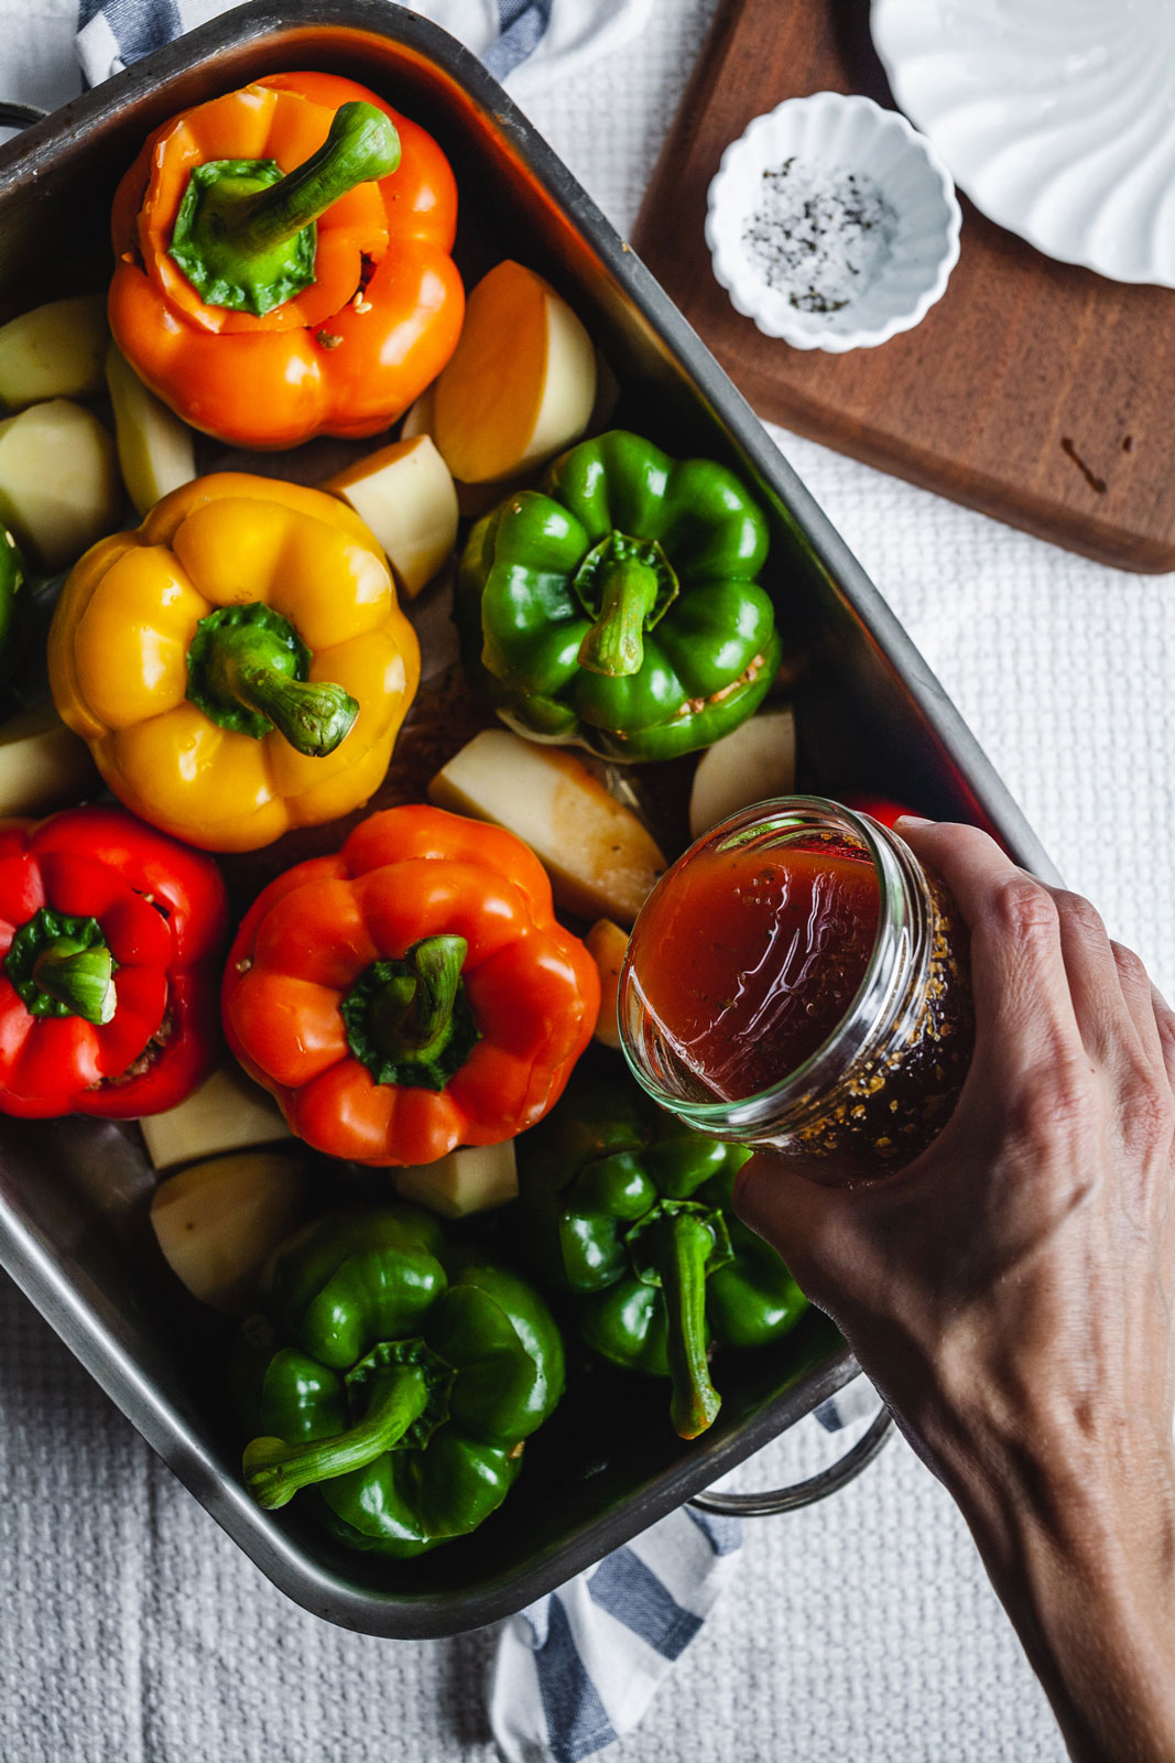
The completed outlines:
<svg viewBox="0 0 1175 1763">
<path fill-rule="evenodd" d="M 802 1114 L 833 1079 L 844 1074 L 847 1061 L 868 1056 L 872 1044 L 888 1023 L 898 975 L 907 957 L 907 940 L 902 933 L 911 926 L 909 889 L 911 878 L 916 873 L 916 860 L 902 839 L 870 815 L 821 795 L 789 795 L 752 802 L 696 839 L 671 864 L 654 889 L 654 894 L 650 894 L 650 899 L 701 850 L 731 850 L 735 844 L 745 844 L 756 836 L 772 834 L 780 836 L 777 843 L 789 843 L 794 837 L 812 832 L 847 836 L 872 860 L 877 876 L 877 931 L 865 973 L 839 1021 L 800 1065 L 793 1067 L 766 1090 L 756 1090 L 749 1097 L 731 1100 L 721 1097 L 698 1100 L 668 1090 L 657 1081 L 657 1074 L 645 1061 L 634 1030 L 627 1021 L 625 1000 L 634 996 L 634 945 L 632 938 L 629 940 L 617 1000 L 620 1049 L 629 1070 L 645 1093 L 698 1132 L 706 1132 L 721 1139 L 754 1137 L 766 1127 L 779 1127 L 782 1116 Z M 766 844 L 765 848 L 772 846 Z M 636 1010 L 643 1012 L 643 1001 L 634 1001 Z"/>
</svg>

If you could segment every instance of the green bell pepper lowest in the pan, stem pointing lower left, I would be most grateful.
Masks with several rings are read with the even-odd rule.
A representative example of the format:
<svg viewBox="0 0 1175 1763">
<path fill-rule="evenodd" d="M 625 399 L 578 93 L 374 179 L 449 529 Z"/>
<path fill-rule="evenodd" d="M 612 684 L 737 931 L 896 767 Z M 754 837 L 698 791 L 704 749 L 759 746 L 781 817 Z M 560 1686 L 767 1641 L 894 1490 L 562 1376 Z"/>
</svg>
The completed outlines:
<svg viewBox="0 0 1175 1763">
<path fill-rule="evenodd" d="M 428 1213 L 381 1206 L 292 1236 L 262 1299 L 234 1363 L 259 1506 L 314 1488 L 340 1541 L 405 1558 L 502 1504 L 564 1389 L 562 1338 L 528 1283 Z"/>
</svg>

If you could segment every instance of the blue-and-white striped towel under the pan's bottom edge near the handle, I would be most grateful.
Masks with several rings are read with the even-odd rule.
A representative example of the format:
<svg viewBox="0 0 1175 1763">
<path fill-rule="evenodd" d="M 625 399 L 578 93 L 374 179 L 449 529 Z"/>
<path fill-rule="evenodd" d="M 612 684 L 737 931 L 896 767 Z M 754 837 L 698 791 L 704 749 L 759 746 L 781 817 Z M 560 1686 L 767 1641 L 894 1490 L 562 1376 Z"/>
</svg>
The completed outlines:
<svg viewBox="0 0 1175 1763">
<path fill-rule="evenodd" d="M 863 1377 L 816 1410 L 839 1432 L 877 1410 Z M 682 1506 L 504 1624 L 490 1685 L 502 1763 L 578 1763 L 639 1724 L 729 1585 L 742 1520 Z"/>
</svg>

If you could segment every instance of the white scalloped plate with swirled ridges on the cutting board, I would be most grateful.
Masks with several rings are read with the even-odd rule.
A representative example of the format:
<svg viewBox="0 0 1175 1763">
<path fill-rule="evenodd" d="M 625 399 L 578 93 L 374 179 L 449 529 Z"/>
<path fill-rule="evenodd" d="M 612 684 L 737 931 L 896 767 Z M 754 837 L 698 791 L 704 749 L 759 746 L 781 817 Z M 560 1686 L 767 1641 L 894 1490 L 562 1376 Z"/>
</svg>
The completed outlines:
<svg viewBox="0 0 1175 1763">
<path fill-rule="evenodd" d="M 990 220 L 1175 287 L 1175 0 L 872 0 L 893 95 Z"/>
</svg>

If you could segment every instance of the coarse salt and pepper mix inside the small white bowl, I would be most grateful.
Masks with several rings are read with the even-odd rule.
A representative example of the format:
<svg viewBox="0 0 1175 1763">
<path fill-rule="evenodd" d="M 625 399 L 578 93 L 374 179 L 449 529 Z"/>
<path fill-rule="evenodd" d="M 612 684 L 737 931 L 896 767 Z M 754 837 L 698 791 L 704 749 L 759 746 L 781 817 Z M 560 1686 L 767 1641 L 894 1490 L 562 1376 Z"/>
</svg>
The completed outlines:
<svg viewBox="0 0 1175 1763">
<path fill-rule="evenodd" d="M 840 312 L 888 261 L 897 226 L 870 176 L 793 155 L 763 171 L 742 243 L 754 273 L 798 312 Z"/>
</svg>

